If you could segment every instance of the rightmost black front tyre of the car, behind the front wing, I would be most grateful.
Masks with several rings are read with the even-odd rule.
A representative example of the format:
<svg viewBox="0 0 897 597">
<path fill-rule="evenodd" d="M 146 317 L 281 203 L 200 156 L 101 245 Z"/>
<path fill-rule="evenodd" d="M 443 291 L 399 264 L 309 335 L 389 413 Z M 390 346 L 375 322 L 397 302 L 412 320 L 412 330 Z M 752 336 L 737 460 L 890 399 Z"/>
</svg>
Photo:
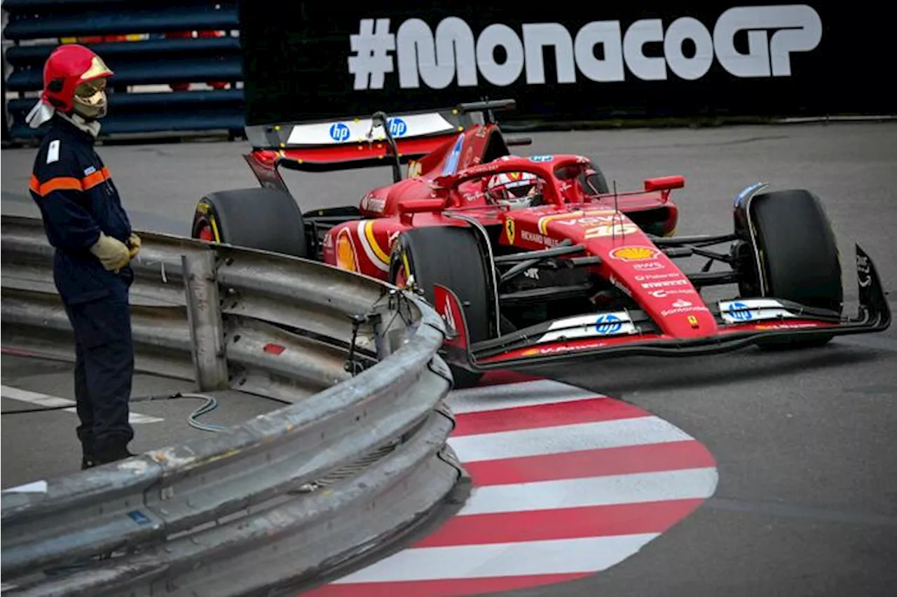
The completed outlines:
<svg viewBox="0 0 897 597">
<path fill-rule="evenodd" d="M 840 314 L 844 290 L 838 243 L 819 198 L 803 189 L 774 191 L 754 195 L 749 210 L 765 288 L 752 264 L 739 284 L 742 295 L 788 299 Z M 832 337 L 764 341 L 761 348 L 821 346 Z"/>
</svg>

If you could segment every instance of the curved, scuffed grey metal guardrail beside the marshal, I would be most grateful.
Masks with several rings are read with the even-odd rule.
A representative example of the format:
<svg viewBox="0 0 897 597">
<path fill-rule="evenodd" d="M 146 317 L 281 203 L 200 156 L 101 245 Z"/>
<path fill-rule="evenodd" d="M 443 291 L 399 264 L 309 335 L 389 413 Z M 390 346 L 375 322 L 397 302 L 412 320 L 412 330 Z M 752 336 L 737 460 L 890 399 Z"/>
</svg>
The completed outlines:
<svg viewBox="0 0 897 597">
<path fill-rule="evenodd" d="M 463 471 L 446 445 L 451 376 L 431 307 L 323 264 L 141 236 L 138 370 L 295 403 L 48 480 L 45 493 L 0 493 L 11 595 L 242 595 L 366 553 L 448 495 Z M 74 359 L 51 264 L 39 220 L 0 219 L 0 346 Z M 327 475 L 333 484 L 298 491 Z"/>
</svg>

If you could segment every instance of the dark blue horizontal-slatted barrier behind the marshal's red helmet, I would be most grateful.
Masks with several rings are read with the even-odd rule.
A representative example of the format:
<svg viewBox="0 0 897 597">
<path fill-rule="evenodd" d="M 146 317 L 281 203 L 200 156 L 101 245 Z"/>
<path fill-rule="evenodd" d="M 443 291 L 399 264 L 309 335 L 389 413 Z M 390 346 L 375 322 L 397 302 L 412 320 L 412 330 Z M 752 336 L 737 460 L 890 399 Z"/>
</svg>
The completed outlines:
<svg viewBox="0 0 897 597">
<path fill-rule="evenodd" d="M 226 131 L 242 135 L 245 125 L 243 62 L 237 0 L 4 0 L 0 39 L 8 65 L 0 91 L 13 92 L 6 112 L 9 137 L 28 139 L 25 116 L 37 101 L 43 63 L 60 40 L 79 39 L 115 71 L 110 81 L 109 117 L 101 136 L 116 134 Z M 185 31 L 225 31 L 225 37 L 170 38 Z M 143 34 L 128 41 L 81 41 L 84 38 Z M 44 43 L 44 41 L 48 43 Z M 134 90 L 135 86 L 228 83 L 211 91 Z M 132 91 L 128 91 L 131 88 Z M 5 116 L 5 115 L 4 115 Z M 4 123 L 3 123 L 4 124 Z M 0 138 L 4 126 L 0 124 Z"/>
</svg>

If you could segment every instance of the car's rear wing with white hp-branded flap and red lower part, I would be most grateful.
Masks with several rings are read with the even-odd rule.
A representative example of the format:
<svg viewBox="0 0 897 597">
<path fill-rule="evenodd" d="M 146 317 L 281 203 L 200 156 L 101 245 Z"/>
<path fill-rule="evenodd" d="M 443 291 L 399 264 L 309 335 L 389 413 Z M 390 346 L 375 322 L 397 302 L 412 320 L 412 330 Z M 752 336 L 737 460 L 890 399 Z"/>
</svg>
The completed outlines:
<svg viewBox="0 0 897 597">
<path fill-rule="evenodd" d="M 513 99 L 478 101 L 414 112 L 246 127 L 253 152 L 247 160 L 259 175 L 284 168 L 327 172 L 393 165 L 420 158 L 473 125 L 494 122 L 492 112 L 513 109 Z M 263 185 L 265 180 L 259 176 Z"/>
</svg>

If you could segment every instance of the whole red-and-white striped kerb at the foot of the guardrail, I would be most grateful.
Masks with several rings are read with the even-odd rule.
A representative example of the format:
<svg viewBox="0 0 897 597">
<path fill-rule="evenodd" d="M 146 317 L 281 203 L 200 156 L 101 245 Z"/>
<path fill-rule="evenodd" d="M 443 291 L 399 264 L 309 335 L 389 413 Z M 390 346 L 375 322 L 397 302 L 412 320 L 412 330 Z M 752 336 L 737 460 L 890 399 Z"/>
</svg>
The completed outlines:
<svg viewBox="0 0 897 597">
<path fill-rule="evenodd" d="M 408 549 L 303 595 L 456 597 L 569 582 L 631 557 L 716 490 L 704 446 L 626 402 L 501 376 L 448 403 L 448 443 L 473 480 L 465 506 Z"/>
</svg>

